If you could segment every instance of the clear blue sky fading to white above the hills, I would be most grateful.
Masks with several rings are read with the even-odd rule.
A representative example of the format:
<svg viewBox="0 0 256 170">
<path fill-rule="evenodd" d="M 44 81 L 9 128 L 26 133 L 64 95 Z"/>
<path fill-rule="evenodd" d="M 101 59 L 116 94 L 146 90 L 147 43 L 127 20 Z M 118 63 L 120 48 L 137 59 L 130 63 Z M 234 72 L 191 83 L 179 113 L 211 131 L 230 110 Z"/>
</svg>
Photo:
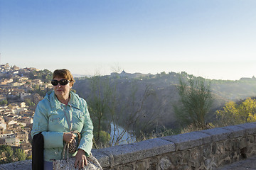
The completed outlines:
<svg viewBox="0 0 256 170">
<path fill-rule="evenodd" d="M 0 63 L 256 77 L 255 0 L 0 0 Z"/>
</svg>

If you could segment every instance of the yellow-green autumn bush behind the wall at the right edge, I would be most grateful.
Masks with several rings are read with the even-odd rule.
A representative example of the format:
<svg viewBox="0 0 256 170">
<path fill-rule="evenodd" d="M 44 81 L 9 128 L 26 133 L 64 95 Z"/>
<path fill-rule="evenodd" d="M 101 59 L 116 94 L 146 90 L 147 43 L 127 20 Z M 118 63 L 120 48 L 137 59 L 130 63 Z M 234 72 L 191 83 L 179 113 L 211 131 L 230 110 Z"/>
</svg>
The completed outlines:
<svg viewBox="0 0 256 170">
<path fill-rule="evenodd" d="M 238 125 L 256 121 L 256 100 L 247 98 L 240 104 L 230 101 L 222 110 L 216 111 L 218 125 Z"/>
</svg>

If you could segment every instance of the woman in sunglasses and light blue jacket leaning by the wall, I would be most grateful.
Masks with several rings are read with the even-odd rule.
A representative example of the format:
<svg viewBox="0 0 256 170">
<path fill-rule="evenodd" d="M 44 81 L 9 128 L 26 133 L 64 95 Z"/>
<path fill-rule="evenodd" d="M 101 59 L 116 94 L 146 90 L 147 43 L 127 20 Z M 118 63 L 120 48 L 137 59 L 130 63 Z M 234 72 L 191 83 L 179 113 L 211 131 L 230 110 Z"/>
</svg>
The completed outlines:
<svg viewBox="0 0 256 170">
<path fill-rule="evenodd" d="M 75 79 L 68 69 L 56 69 L 53 72 L 53 91 L 38 103 L 33 117 L 32 137 L 42 132 L 44 139 L 44 169 L 53 169 L 53 159 L 63 159 L 65 142 L 72 142 L 78 130 L 81 140 L 75 156 L 75 166 L 82 168 L 87 164 L 86 157 L 92 149 L 92 120 L 87 103 L 78 94 L 70 91 Z"/>
</svg>

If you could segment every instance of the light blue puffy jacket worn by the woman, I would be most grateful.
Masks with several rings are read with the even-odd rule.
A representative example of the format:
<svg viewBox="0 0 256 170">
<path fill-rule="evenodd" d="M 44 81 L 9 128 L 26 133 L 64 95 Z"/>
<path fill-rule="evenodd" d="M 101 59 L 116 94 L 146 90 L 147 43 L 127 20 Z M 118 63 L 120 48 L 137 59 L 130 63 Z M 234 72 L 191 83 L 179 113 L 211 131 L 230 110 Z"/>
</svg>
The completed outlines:
<svg viewBox="0 0 256 170">
<path fill-rule="evenodd" d="M 70 132 L 65 113 L 69 120 L 72 114 L 72 131 L 78 130 L 81 133 L 78 149 L 83 149 L 87 156 L 91 152 L 93 126 L 86 101 L 70 91 L 70 101 L 65 105 L 58 101 L 54 91 L 49 91 L 36 107 L 31 130 L 32 137 L 39 132 L 43 134 L 45 161 L 63 159 L 63 132 Z M 69 157 L 75 154 L 70 154 Z"/>
</svg>

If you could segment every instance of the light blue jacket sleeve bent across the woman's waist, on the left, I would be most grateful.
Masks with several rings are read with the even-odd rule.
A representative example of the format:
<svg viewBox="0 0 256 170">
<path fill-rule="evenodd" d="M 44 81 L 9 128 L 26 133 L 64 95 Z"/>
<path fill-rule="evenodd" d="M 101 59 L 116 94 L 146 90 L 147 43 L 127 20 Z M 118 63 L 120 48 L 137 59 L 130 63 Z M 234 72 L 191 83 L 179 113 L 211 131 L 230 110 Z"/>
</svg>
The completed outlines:
<svg viewBox="0 0 256 170">
<path fill-rule="evenodd" d="M 42 132 L 44 139 L 44 148 L 63 147 L 63 132 L 48 132 L 48 111 L 50 103 L 48 101 L 40 101 L 36 107 L 33 116 L 33 128 L 31 130 L 32 137 Z"/>
</svg>

